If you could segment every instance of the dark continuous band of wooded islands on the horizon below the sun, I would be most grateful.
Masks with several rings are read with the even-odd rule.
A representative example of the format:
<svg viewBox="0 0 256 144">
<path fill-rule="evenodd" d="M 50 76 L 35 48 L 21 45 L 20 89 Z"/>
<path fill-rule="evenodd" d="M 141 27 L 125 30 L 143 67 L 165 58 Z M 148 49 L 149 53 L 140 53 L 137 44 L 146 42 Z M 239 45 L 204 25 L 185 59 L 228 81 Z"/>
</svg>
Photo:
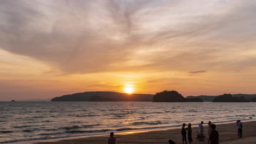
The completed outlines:
<svg viewBox="0 0 256 144">
<path fill-rule="evenodd" d="M 153 101 L 153 102 L 256 102 L 256 95 L 224 94 L 219 96 L 188 96 L 177 91 L 162 91 L 151 94 L 125 94 L 120 92 L 81 92 L 53 98 L 51 101 Z"/>
</svg>

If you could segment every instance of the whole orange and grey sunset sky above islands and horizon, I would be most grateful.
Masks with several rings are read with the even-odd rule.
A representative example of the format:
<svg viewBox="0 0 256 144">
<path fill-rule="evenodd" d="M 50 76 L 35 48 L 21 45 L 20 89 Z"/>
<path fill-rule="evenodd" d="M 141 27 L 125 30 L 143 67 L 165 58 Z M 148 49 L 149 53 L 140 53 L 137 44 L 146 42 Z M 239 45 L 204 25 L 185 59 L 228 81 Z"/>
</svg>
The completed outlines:
<svg viewBox="0 0 256 144">
<path fill-rule="evenodd" d="M 0 101 L 256 94 L 255 0 L 1 0 Z"/>
</svg>

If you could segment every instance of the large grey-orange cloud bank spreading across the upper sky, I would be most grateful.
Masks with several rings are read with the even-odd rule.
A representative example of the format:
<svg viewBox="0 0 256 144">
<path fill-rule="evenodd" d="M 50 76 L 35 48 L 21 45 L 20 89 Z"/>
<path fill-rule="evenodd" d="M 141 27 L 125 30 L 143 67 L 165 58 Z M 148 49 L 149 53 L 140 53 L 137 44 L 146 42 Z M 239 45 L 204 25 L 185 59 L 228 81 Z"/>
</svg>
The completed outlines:
<svg viewBox="0 0 256 144">
<path fill-rule="evenodd" d="M 232 56 L 254 48 L 255 10 L 228 0 L 2 0 L 0 48 L 62 74 L 231 71 L 230 61 L 253 62 Z"/>
</svg>

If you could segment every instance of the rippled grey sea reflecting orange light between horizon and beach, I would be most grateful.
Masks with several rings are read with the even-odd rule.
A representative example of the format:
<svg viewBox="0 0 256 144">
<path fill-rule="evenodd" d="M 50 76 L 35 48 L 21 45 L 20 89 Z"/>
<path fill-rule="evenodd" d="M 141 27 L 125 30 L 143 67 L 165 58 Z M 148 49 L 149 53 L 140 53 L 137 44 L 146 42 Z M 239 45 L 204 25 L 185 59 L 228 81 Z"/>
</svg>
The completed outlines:
<svg viewBox="0 0 256 144">
<path fill-rule="evenodd" d="M 0 143 L 256 120 L 256 103 L 0 102 Z"/>
</svg>

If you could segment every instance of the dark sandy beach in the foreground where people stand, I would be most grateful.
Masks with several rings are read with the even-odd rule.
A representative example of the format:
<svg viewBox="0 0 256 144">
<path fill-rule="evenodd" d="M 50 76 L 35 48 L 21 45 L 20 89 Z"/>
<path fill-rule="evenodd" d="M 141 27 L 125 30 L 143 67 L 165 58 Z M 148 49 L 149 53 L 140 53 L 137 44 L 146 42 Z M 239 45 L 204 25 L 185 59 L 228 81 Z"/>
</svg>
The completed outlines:
<svg viewBox="0 0 256 144">
<path fill-rule="evenodd" d="M 237 138 L 236 123 L 216 124 L 216 130 L 219 131 L 219 140 L 221 144 L 256 144 L 256 121 L 243 122 L 243 138 Z M 204 124 L 206 138 L 204 141 L 198 141 L 196 134 L 198 127 L 193 127 L 193 144 L 207 144 L 208 131 L 207 123 Z M 117 138 L 118 144 L 168 144 L 171 139 L 177 144 L 182 144 L 181 128 L 170 130 L 154 130 L 140 132 L 125 132 L 114 135 Z M 83 138 L 69 138 L 58 141 L 41 141 L 33 144 L 106 144 L 108 134 Z"/>
</svg>

